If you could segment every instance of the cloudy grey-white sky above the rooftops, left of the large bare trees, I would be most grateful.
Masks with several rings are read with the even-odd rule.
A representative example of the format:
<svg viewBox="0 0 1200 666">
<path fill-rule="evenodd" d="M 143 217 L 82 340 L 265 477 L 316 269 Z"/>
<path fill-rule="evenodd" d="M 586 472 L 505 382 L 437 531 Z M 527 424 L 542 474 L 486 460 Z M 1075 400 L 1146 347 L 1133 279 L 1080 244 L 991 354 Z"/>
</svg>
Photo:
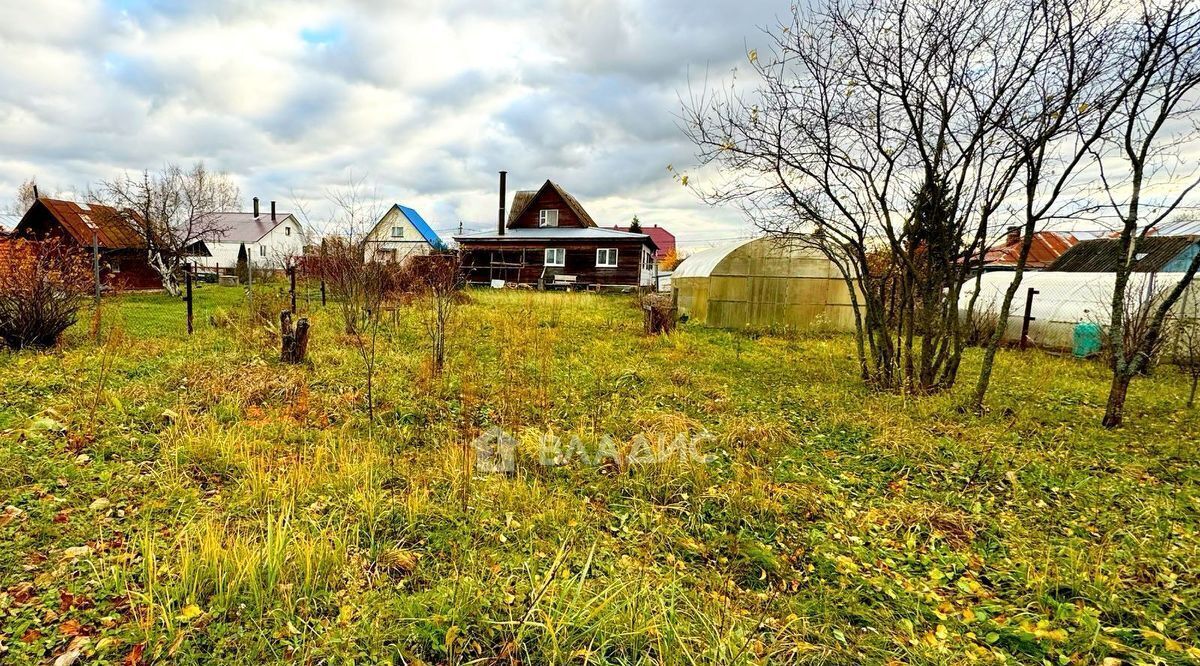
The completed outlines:
<svg viewBox="0 0 1200 666">
<path fill-rule="evenodd" d="M 366 178 L 449 235 L 547 178 L 688 247 L 750 226 L 672 180 L 689 76 L 726 77 L 784 0 L 0 2 L 0 198 L 205 161 L 250 198 Z M 690 74 L 689 74 L 690 73 Z M 380 211 L 382 212 L 382 211 Z"/>
</svg>

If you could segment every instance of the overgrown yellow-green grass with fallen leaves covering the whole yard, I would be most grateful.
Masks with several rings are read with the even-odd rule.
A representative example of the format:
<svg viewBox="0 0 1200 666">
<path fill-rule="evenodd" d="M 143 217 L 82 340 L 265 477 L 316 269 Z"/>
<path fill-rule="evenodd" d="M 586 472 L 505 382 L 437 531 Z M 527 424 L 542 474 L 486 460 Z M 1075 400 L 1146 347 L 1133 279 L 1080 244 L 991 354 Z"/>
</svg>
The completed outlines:
<svg viewBox="0 0 1200 666">
<path fill-rule="evenodd" d="M 1171 368 L 1110 432 L 1091 362 L 1002 353 L 976 418 L 970 382 L 866 391 L 846 337 L 469 299 L 442 378 L 419 305 L 385 326 L 373 427 L 312 299 L 307 367 L 218 287 L 191 337 L 136 295 L 102 346 L 82 317 L 0 353 L 0 662 L 1200 661 L 1200 418 Z M 470 479 L 492 426 L 517 470 Z M 707 432 L 709 461 L 547 468 L 547 431 Z"/>
</svg>

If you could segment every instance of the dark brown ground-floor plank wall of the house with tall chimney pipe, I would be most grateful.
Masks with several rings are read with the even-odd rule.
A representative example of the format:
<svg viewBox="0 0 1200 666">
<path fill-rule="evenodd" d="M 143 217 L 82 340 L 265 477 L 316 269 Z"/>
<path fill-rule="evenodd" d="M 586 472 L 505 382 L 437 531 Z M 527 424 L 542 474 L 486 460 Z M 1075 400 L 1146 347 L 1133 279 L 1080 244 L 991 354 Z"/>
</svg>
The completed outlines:
<svg viewBox="0 0 1200 666">
<path fill-rule="evenodd" d="M 566 265 L 545 266 L 547 247 L 564 248 Z M 617 248 L 616 268 L 596 266 L 596 250 L 600 247 Z M 601 287 L 636 287 L 641 281 L 642 245 L 636 241 L 529 242 L 521 244 L 520 247 L 514 244 L 476 244 L 463 246 L 462 250 L 468 282 L 504 280 L 520 284 L 538 284 L 545 276 L 548 284 L 554 275 L 574 275 L 581 284 Z"/>
</svg>

